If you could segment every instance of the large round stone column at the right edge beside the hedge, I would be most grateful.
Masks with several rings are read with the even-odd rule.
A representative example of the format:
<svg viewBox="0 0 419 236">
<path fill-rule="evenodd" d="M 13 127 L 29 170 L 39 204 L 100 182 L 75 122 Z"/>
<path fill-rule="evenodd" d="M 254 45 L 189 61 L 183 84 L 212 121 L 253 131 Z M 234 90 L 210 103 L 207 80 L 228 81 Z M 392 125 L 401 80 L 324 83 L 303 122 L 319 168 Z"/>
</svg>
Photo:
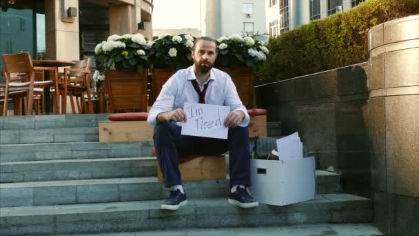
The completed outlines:
<svg viewBox="0 0 419 236">
<path fill-rule="evenodd" d="M 375 222 L 419 232 L 419 15 L 369 31 L 369 136 Z M 416 210 L 415 210 L 416 209 Z"/>
</svg>

